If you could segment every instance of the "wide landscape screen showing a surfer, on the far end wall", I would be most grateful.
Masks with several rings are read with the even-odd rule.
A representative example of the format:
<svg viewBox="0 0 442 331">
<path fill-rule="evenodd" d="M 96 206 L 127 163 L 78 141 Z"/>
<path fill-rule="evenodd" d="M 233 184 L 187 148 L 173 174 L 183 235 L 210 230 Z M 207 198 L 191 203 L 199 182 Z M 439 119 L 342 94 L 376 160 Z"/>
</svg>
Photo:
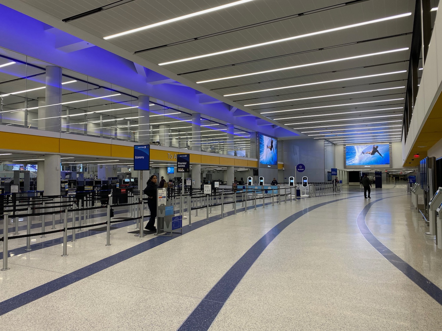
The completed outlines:
<svg viewBox="0 0 442 331">
<path fill-rule="evenodd" d="M 390 144 L 344 146 L 346 166 L 390 166 Z"/>
</svg>

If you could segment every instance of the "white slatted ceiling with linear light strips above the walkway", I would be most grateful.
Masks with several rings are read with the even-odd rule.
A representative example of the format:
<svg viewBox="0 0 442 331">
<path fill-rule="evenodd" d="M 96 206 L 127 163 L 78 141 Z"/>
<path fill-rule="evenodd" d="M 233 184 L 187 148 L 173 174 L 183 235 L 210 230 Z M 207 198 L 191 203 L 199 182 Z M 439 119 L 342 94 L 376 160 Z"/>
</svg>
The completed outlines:
<svg viewBox="0 0 442 331">
<path fill-rule="evenodd" d="M 412 0 L 253 0 L 108 40 L 103 38 L 234 1 L 125 1 L 68 23 L 61 20 L 112 2 L 0 2 L 286 128 L 319 126 L 306 122 L 322 119 L 322 126 L 345 133 L 358 124 L 370 130 L 402 119 L 413 15 L 386 18 L 413 13 Z M 385 20 L 373 23 L 379 19 Z M 353 27 L 302 37 L 347 26 Z M 296 36 L 302 38 L 158 65 Z M 271 71 L 293 66 L 301 67 Z M 270 72 L 248 75 L 260 71 Z M 246 76 L 196 83 L 236 75 Z M 279 119 L 286 117 L 298 118 Z"/>
</svg>

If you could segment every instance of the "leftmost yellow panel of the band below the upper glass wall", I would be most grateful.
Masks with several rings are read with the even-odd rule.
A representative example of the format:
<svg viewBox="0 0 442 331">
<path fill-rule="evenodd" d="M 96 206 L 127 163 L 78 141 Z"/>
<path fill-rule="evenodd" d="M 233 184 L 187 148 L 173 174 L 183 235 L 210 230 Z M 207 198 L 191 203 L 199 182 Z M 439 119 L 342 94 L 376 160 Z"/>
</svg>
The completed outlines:
<svg viewBox="0 0 442 331">
<path fill-rule="evenodd" d="M 0 132 L 0 148 L 8 150 L 58 153 L 60 145 L 58 138 Z"/>
</svg>

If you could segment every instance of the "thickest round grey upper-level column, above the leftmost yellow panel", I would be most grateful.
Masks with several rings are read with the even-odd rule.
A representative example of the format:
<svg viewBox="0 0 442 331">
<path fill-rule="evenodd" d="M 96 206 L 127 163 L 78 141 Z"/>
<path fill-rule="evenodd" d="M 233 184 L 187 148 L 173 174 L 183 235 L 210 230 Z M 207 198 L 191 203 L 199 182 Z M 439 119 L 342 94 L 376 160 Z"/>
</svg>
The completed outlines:
<svg viewBox="0 0 442 331">
<path fill-rule="evenodd" d="M 44 109 L 43 118 L 52 117 L 45 120 L 44 130 L 46 131 L 60 131 L 61 72 L 62 69 L 60 67 L 46 67 L 46 107 L 42 108 Z M 38 110 L 40 109 L 38 108 Z M 38 113 L 38 118 L 42 118 L 40 117 L 40 112 Z"/>
</svg>

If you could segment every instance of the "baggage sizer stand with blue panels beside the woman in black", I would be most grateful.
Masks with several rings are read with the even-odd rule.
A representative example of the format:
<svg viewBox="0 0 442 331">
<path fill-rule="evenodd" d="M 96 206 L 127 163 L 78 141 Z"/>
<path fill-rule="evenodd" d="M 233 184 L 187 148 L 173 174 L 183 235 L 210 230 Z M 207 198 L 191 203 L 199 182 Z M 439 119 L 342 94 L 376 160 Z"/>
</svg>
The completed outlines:
<svg viewBox="0 0 442 331">
<path fill-rule="evenodd" d="M 172 233 L 182 233 L 183 215 L 175 216 L 173 206 L 168 206 L 167 188 L 158 188 L 157 199 L 157 227 L 155 235 L 167 235 L 172 237 Z"/>
</svg>

